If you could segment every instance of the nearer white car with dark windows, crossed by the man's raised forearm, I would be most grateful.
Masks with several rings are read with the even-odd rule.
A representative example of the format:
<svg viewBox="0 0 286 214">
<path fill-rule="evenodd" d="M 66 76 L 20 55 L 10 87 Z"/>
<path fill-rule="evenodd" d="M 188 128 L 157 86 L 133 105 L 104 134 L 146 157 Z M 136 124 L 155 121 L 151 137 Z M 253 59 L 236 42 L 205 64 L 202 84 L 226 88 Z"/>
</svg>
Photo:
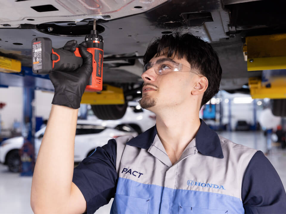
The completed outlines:
<svg viewBox="0 0 286 214">
<path fill-rule="evenodd" d="M 41 146 L 46 127 L 35 133 L 35 158 Z M 116 125 L 114 128 L 96 125 L 94 121 L 78 120 L 74 139 L 74 162 L 80 162 L 94 152 L 97 147 L 103 146 L 109 139 L 131 135 L 136 137 L 137 132 L 128 125 Z M 0 163 L 8 165 L 13 172 L 20 171 L 19 151 L 23 146 L 24 138 L 14 137 L 4 140 L 0 145 Z"/>
</svg>

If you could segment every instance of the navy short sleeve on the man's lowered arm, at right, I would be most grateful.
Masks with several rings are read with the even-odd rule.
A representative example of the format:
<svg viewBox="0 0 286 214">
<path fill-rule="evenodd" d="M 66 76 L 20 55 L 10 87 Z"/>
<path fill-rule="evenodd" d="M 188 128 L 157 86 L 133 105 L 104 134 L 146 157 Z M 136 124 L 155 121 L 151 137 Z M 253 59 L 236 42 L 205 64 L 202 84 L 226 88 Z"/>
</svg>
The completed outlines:
<svg viewBox="0 0 286 214">
<path fill-rule="evenodd" d="M 245 213 L 286 213 L 286 193 L 281 179 L 261 151 L 251 158 L 243 177 Z"/>
</svg>

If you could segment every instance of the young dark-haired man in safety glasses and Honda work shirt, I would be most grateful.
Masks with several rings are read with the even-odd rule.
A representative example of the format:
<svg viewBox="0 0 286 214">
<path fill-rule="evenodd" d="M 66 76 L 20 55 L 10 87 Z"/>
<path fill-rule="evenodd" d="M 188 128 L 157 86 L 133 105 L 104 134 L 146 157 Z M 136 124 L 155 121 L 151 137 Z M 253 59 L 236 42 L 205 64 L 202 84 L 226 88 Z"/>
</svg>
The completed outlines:
<svg viewBox="0 0 286 214">
<path fill-rule="evenodd" d="M 91 56 L 74 73 L 50 75 L 55 97 L 32 181 L 35 213 L 286 213 L 282 182 L 257 151 L 218 136 L 199 110 L 219 90 L 211 45 L 164 35 L 144 56 L 142 108 L 156 126 L 111 139 L 73 169 L 77 109 Z"/>
</svg>

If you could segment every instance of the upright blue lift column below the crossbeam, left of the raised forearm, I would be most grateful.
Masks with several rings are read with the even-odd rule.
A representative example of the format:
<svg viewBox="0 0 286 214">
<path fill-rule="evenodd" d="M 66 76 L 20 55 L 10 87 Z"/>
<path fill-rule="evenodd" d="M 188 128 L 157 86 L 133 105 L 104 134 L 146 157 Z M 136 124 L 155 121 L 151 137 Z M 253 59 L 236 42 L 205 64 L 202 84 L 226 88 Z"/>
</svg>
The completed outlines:
<svg viewBox="0 0 286 214">
<path fill-rule="evenodd" d="M 21 176 L 32 176 L 35 166 L 35 90 L 33 87 L 23 88 L 23 124 L 24 144 L 20 151 Z"/>
</svg>

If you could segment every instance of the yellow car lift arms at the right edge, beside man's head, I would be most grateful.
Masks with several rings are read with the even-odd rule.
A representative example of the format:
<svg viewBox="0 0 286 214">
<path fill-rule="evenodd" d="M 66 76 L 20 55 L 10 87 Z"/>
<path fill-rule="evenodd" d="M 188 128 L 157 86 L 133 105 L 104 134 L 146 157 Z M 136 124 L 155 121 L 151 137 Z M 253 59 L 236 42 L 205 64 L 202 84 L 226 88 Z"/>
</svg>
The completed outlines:
<svg viewBox="0 0 286 214">
<path fill-rule="evenodd" d="M 286 34 L 245 37 L 247 70 L 263 70 L 262 78 L 248 80 L 253 99 L 286 99 Z M 273 71 L 276 70 L 276 71 Z M 280 71 L 279 71 L 280 70 Z"/>
</svg>

